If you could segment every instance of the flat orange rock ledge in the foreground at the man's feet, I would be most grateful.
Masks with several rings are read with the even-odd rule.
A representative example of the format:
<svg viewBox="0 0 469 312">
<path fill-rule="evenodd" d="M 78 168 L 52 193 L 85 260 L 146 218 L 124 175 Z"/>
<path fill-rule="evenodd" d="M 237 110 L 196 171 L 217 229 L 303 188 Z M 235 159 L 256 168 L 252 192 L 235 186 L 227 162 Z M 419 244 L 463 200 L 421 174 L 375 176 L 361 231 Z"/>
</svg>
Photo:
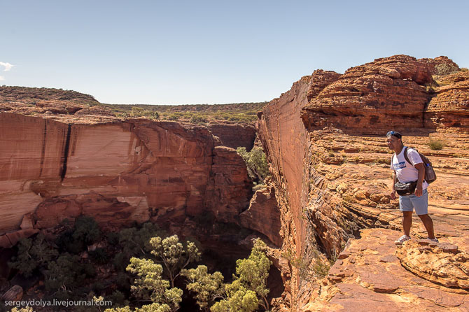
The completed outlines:
<svg viewBox="0 0 469 312">
<path fill-rule="evenodd" d="M 469 292 L 421 279 L 400 264 L 398 257 L 402 253 L 421 252 L 412 241 L 396 250 L 393 241 L 398 236 L 400 232 L 389 229 L 362 230 L 361 238 L 351 240 L 344 250 L 346 257 L 335 262 L 300 311 L 467 311 Z M 434 248 L 424 253 L 428 260 L 437 260 L 434 273 L 454 274 L 451 260 L 441 250 Z"/>
</svg>

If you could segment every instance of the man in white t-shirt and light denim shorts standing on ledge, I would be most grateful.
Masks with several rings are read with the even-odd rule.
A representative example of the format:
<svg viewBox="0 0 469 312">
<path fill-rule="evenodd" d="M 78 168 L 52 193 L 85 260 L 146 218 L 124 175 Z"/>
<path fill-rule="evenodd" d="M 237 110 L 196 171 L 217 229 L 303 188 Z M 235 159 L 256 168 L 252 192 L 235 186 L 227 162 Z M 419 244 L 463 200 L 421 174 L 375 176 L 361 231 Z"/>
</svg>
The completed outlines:
<svg viewBox="0 0 469 312">
<path fill-rule="evenodd" d="M 425 166 L 422 159 L 416 150 L 407 148 L 407 156 L 410 162 L 412 162 L 412 164 L 409 164 L 404 156 L 405 146 L 402 144 L 402 134 L 390 131 L 386 134 L 386 137 L 388 148 L 394 151 L 394 155 L 391 158 L 391 169 L 394 170 L 391 198 L 396 199 L 396 178 L 401 183 L 417 181 L 414 194 L 399 196 L 399 208 L 402 211 L 402 229 L 404 235 L 400 236 L 394 243 L 402 245 L 402 243 L 410 239 L 410 227 L 412 226 L 412 212 L 414 209 L 415 213 L 419 215 L 420 220 L 422 220 L 423 225 L 425 225 L 428 239 L 437 242 L 438 240 L 433 232 L 433 221 L 428 215 L 428 192 L 426 190 L 428 183 L 423 180 L 425 178 Z"/>
</svg>

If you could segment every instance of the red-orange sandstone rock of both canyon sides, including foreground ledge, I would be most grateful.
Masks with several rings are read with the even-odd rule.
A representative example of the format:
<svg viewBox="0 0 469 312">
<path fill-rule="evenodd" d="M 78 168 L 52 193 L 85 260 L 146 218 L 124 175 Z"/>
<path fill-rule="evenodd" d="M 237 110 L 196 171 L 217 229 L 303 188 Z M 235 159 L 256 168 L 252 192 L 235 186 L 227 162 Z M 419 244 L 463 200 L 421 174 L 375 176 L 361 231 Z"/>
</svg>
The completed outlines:
<svg viewBox="0 0 469 312">
<path fill-rule="evenodd" d="M 227 129 L 76 113 L 99 113 L 85 108 L 28 117 L 12 112 L 29 103 L 9 98 L 10 113 L 0 114 L 0 243 L 80 214 L 107 227 L 176 228 L 207 213 L 281 246 L 269 252 L 285 284 L 281 311 L 469 310 L 468 81 L 447 57 L 314 71 L 258 113 L 272 185 L 254 195 L 233 149 L 248 146 Z M 440 246 L 393 245 L 401 213 L 389 197 L 390 129 L 437 172 L 429 209 Z M 432 150 L 430 140 L 445 146 Z M 411 235 L 426 237 L 418 218 Z M 323 278 L 326 257 L 337 255 Z"/>
</svg>

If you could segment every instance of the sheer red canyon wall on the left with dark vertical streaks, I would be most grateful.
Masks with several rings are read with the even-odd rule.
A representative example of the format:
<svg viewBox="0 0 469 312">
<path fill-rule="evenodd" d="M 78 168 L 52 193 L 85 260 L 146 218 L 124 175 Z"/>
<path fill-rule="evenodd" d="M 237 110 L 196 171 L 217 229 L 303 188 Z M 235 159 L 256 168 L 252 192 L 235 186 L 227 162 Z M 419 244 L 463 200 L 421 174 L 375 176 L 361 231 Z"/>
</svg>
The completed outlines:
<svg viewBox="0 0 469 312">
<path fill-rule="evenodd" d="M 0 113 L 0 145 L 0 247 L 78 215 L 106 229 L 208 212 L 239 223 L 253 194 L 243 159 L 207 127 Z"/>
</svg>

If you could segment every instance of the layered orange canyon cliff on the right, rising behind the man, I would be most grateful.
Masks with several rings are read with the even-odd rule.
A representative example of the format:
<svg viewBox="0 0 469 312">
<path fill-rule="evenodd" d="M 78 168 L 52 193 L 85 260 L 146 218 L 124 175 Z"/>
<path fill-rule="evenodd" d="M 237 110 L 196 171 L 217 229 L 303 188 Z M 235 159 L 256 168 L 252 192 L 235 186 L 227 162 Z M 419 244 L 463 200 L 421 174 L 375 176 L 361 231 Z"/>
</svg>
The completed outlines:
<svg viewBox="0 0 469 312">
<path fill-rule="evenodd" d="M 350 294 L 365 302 L 364 290 L 353 293 L 335 286 L 345 279 L 359 281 L 359 272 L 349 268 L 350 278 L 334 276 L 346 269 L 338 267 L 321 281 L 321 270 L 328 263 L 325 257 L 333 262 L 349 248 L 349 239 L 360 238 L 361 229 L 400 229 L 398 203 L 389 197 L 391 153 L 385 135 L 391 129 L 404 134 L 406 145 L 428 155 L 437 171 L 439 178 L 429 189 L 437 234 L 458 243 L 461 250 L 469 248 L 468 82 L 468 72 L 447 57 L 396 55 L 343 75 L 314 71 L 259 113 L 259 136 L 281 211 L 279 263 L 286 283 L 281 309 L 360 311 L 359 305 L 351 305 L 353 300 L 344 301 L 348 306 L 329 305 L 334 295 Z M 430 140 L 446 146 L 431 150 Z M 448 215 L 454 218 L 445 218 Z M 383 241 L 393 239 L 387 232 L 373 233 Z M 425 234 L 421 224 L 412 229 L 417 237 Z M 398 278 L 394 273 L 390 281 Z M 370 285 L 360 287 L 371 289 Z"/>
</svg>

